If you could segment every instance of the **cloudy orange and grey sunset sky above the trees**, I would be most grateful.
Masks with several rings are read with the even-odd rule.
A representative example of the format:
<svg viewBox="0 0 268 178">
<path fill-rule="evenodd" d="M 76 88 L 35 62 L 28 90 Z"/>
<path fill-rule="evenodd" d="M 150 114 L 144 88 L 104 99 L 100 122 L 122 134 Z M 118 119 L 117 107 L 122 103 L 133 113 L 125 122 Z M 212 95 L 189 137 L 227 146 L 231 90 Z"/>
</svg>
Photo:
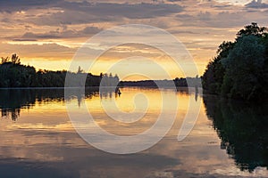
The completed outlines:
<svg viewBox="0 0 268 178">
<path fill-rule="evenodd" d="M 90 37 L 120 25 L 143 24 L 180 40 L 197 66 L 197 71 L 189 73 L 201 76 L 222 41 L 233 41 L 239 29 L 253 21 L 267 27 L 267 17 L 268 0 L 1 0 L 0 56 L 17 53 L 21 63 L 36 69 L 76 69 L 80 62 L 70 68 L 71 61 Z M 166 43 L 157 35 L 155 39 Z M 103 46 L 107 43 L 90 44 L 88 53 Z M 131 61 L 133 56 L 142 58 Z M 114 62 L 127 59 L 122 62 L 125 69 L 113 71 L 127 76 L 128 68 L 149 68 L 144 58 L 155 61 L 171 77 L 186 76 L 184 69 L 172 69 L 170 56 L 144 44 L 114 46 L 98 58 L 94 68 L 85 70 L 98 75 L 113 71 Z M 154 69 L 152 73 L 151 77 L 166 78 Z"/>
</svg>

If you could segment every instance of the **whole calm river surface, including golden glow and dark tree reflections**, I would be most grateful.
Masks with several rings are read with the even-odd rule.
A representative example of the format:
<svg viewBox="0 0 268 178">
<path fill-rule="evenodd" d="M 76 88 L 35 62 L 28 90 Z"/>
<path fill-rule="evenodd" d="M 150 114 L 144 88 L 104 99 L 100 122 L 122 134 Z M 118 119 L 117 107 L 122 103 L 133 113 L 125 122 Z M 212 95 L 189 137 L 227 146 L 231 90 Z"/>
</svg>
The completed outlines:
<svg viewBox="0 0 268 178">
<path fill-rule="evenodd" d="M 100 101 L 133 109 L 133 97 L 150 101 L 144 119 L 130 125 L 109 121 Z M 116 134 L 138 134 L 155 122 L 160 105 L 156 89 L 122 88 L 115 93 L 63 89 L 0 90 L 0 177 L 267 177 L 268 107 L 198 96 L 185 89 L 167 90 L 179 99 L 171 131 L 148 150 L 130 155 L 106 153 L 75 132 L 66 105 L 80 112 L 87 104 L 96 122 Z M 202 101 L 197 123 L 181 142 L 177 134 L 189 101 Z"/>
</svg>

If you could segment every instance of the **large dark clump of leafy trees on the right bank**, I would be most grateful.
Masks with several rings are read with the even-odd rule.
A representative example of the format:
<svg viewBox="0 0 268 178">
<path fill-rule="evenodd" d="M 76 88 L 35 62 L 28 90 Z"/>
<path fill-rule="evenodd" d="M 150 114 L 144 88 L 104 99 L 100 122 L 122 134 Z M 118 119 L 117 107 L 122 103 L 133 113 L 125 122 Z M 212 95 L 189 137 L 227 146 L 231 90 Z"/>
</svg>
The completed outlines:
<svg viewBox="0 0 268 178">
<path fill-rule="evenodd" d="M 207 93 L 264 101 L 268 98 L 268 34 L 257 23 L 239 30 L 234 42 L 223 42 L 202 77 Z"/>
</svg>

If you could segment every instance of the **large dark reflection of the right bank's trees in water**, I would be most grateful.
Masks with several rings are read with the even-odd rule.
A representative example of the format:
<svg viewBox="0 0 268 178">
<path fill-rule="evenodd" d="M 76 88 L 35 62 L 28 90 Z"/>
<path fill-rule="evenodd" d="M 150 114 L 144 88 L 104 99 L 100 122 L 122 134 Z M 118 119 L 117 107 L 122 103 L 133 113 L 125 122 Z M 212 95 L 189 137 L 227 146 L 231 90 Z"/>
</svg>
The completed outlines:
<svg viewBox="0 0 268 178">
<path fill-rule="evenodd" d="M 268 169 L 268 110 L 265 106 L 248 106 L 204 96 L 207 116 L 227 150 L 241 170 Z"/>
</svg>

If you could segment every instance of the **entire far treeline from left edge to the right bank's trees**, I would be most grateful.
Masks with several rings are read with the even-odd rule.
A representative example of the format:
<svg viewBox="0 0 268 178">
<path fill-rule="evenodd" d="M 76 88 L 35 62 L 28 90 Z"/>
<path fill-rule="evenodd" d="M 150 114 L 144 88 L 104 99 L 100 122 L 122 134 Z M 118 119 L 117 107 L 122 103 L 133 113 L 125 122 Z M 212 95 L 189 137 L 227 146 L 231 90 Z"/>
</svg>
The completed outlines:
<svg viewBox="0 0 268 178">
<path fill-rule="evenodd" d="M 68 74 L 69 81 L 65 83 Z M 86 78 L 86 82 L 84 81 Z M 176 77 L 173 80 L 143 80 L 143 81 L 121 81 L 117 75 L 111 73 L 99 76 L 85 73 L 82 69 L 77 72 L 67 70 L 41 70 L 32 66 L 21 64 L 18 55 L 13 54 L 11 58 L 2 57 L 0 63 L 0 87 L 64 87 L 64 86 L 145 86 L 145 87 L 169 87 L 169 86 L 197 86 L 201 84 L 199 77 Z M 158 84 L 158 86 L 156 85 Z"/>
</svg>

